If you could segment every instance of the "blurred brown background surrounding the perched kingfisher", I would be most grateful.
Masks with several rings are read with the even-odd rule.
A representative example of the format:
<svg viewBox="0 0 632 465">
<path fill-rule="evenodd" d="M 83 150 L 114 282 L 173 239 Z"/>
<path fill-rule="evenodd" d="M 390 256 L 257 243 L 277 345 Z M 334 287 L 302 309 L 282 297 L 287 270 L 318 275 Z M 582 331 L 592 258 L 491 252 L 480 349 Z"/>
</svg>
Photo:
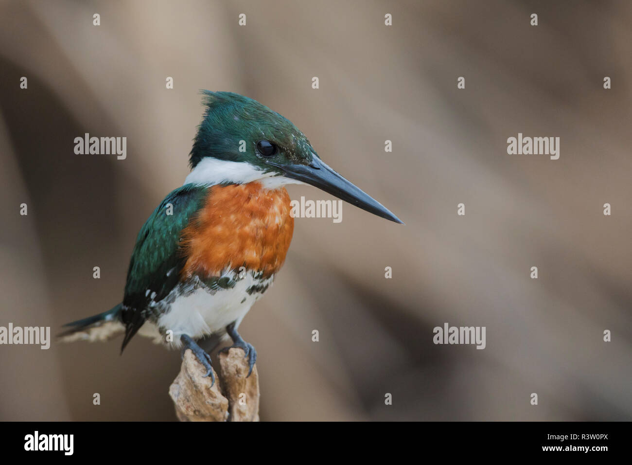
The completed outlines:
<svg viewBox="0 0 632 465">
<path fill-rule="evenodd" d="M 230 90 L 406 223 L 296 220 L 240 328 L 262 420 L 630 419 L 631 22 L 627 1 L 2 1 L 0 325 L 56 333 L 121 301 L 188 173 L 198 89 Z M 85 132 L 127 137 L 127 159 L 75 155 Z M 559 160 L 507 155 L 518 132 L 560 137 Z M 432 344 L 444 322 L 487 348 Z M 0 419 L 175 419 L 179 354 L 120 342 L 0 346 Z"/>
</svg>

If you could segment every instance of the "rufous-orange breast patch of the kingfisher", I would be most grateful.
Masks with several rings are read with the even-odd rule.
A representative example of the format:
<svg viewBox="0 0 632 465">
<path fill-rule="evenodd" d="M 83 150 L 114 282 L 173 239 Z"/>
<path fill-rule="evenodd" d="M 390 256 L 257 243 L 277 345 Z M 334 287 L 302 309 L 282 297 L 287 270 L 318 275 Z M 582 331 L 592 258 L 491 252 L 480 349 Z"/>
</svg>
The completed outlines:
<svg viewBox="0 0 632 465">
<path fill-rule="evenodd" d="M 285 188 L 265 190 L 258 182 L 209 187 L 204 208 L 183 231 L 188 257 L 181 275 L 219 276 L 222 271 L 276 273 L 294 231 Z"/>
</svg>

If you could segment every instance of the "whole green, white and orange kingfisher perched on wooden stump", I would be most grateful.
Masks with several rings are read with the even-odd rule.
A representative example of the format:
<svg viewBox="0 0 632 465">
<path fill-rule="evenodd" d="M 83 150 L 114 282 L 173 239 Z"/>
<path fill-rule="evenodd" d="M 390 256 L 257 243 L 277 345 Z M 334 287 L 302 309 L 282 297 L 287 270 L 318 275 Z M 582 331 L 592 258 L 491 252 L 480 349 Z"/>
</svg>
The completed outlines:
<svg viewBox="0 0 632 465">
<path fill-rule="evenodd" d="M 62 340 L 153 338 L 190 349 L 215 382 L 200 340 L 216 337 L 248 360 L 257 351 L 238 333 L 250 307 L 283 266 L 294 230 L 285 186 L 309 184 L 387 220 L 382 204 L 324 163 L 291 121 L 232 92 L 202 90 L 202 122 L 191 172 L 145 221 L 134 245 L 123 301 L 68 323 Z"/>
</svg>

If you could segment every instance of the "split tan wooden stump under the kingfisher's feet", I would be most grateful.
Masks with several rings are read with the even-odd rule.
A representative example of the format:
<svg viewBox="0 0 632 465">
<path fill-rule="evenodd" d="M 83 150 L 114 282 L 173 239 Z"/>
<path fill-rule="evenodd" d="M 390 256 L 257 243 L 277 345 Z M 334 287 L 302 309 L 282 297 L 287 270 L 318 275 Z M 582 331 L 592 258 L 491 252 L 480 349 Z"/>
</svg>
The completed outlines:
<svg viewBox="0 0 632 465">
<path fill-rule="evenodd" d="M 215 384 L 204 377 L 205 369 L 191 350 L 186 350 L 180 373 L 169 387 L 180 421 L 259 421 L 257 366 L 248 375 L 248 359 L 242 349 L 219 354 Z"/>
</svg>

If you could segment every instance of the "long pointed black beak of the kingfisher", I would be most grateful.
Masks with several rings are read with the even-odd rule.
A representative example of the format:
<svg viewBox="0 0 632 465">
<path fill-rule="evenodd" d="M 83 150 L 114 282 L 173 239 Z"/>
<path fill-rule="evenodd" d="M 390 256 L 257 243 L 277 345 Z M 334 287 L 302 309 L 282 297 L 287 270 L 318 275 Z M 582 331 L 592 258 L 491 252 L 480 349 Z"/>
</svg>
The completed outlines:
<svg viewBox="0 0 632 465">
<path fill-rule="evenodd" d="M 404 224 L 397 216 L 391 213 L 389 209 L 373 199 L 370 195 L 365 194 L 355 185 L 343 178 L 325 164 L 317 155 L 313 156 L 311 164 L 285 164 L 275 165 L 285 171 L 288 178 L 318 187 L 328 194 L 334 195 L 339 199 L 349 202 L 358 208 L 377 214 L 382 218 L 394 221 L 395 223 Z"/>
</svg>

